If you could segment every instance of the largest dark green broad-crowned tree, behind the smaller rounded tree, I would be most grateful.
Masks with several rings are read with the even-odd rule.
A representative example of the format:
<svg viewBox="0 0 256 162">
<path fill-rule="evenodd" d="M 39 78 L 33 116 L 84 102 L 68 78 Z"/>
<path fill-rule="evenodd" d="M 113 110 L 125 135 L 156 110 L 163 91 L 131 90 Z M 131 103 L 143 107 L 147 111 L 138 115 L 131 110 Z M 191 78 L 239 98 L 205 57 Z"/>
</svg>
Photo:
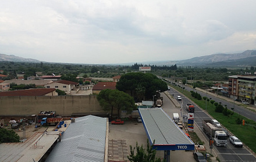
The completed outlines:
<svg viewBox="0 0 256 162">
<path fill-rule="evenodd" d="M 130 93 L 137 99 L 141 99 L 141 95 L 148 99 L 155 95 L 156 91 L 166 91 L 168 87 L 163 80 L 152 73 L 130 72 L 121 76 L 116 83 L 116 89 Z"/>
</svg>

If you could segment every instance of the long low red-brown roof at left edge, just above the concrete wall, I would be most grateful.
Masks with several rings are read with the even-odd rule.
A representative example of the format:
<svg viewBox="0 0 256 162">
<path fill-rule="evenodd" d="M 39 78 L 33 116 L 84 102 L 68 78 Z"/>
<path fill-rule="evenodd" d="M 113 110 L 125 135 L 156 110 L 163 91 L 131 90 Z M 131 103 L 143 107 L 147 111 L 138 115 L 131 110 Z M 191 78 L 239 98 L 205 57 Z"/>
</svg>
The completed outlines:
<svg viewBox="0 0 256 162">
<path fill-rule="evenodd" d="M 56 89 L 29 89 L 29 90 L 16 90 L 16 91 L 3 91 L 0 96 L 41 96 Z"/>
</svg>

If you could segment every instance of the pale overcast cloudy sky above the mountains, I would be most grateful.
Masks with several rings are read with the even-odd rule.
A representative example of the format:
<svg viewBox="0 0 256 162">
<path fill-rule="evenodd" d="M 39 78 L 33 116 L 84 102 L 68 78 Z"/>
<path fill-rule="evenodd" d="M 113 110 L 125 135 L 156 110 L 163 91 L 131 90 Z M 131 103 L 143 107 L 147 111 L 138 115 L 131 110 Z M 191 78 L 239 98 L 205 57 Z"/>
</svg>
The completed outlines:
<svg viewBox="0 0 256 162">
<path fill-rule="evenodd" d="M 255 0 L 0 0 L 0 53 L 122 64 L 255 50 Z"/>
</svg>

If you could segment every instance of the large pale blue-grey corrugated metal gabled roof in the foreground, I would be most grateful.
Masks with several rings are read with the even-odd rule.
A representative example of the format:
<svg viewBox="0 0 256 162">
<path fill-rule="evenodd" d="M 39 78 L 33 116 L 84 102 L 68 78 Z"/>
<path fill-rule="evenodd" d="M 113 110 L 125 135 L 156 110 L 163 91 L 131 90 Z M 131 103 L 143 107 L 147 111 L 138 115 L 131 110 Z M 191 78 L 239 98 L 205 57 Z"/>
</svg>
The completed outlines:
<svg viewBox="0 0 256 162">
<path fill-rule="evenodd" d="M 104 117 L 88 115 L 70 123 L 49 154 L 49 161 L 104 161 L 106 121 Z"/>
</svg>

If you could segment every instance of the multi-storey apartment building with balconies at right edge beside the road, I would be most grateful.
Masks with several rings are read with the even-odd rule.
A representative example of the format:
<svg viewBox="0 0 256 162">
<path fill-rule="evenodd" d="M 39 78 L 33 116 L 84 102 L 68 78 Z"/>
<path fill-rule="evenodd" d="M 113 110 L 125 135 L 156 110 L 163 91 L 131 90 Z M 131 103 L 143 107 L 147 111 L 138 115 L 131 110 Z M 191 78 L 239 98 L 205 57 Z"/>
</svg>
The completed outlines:
<svg viewBox="0 0 256 162">
<path fill-rule="evenodd" d="M 247 101 L 254 104 L 256 76 L 233 75 L 229 76 L 229 94 L 234 100 Z"/>
</svg>

